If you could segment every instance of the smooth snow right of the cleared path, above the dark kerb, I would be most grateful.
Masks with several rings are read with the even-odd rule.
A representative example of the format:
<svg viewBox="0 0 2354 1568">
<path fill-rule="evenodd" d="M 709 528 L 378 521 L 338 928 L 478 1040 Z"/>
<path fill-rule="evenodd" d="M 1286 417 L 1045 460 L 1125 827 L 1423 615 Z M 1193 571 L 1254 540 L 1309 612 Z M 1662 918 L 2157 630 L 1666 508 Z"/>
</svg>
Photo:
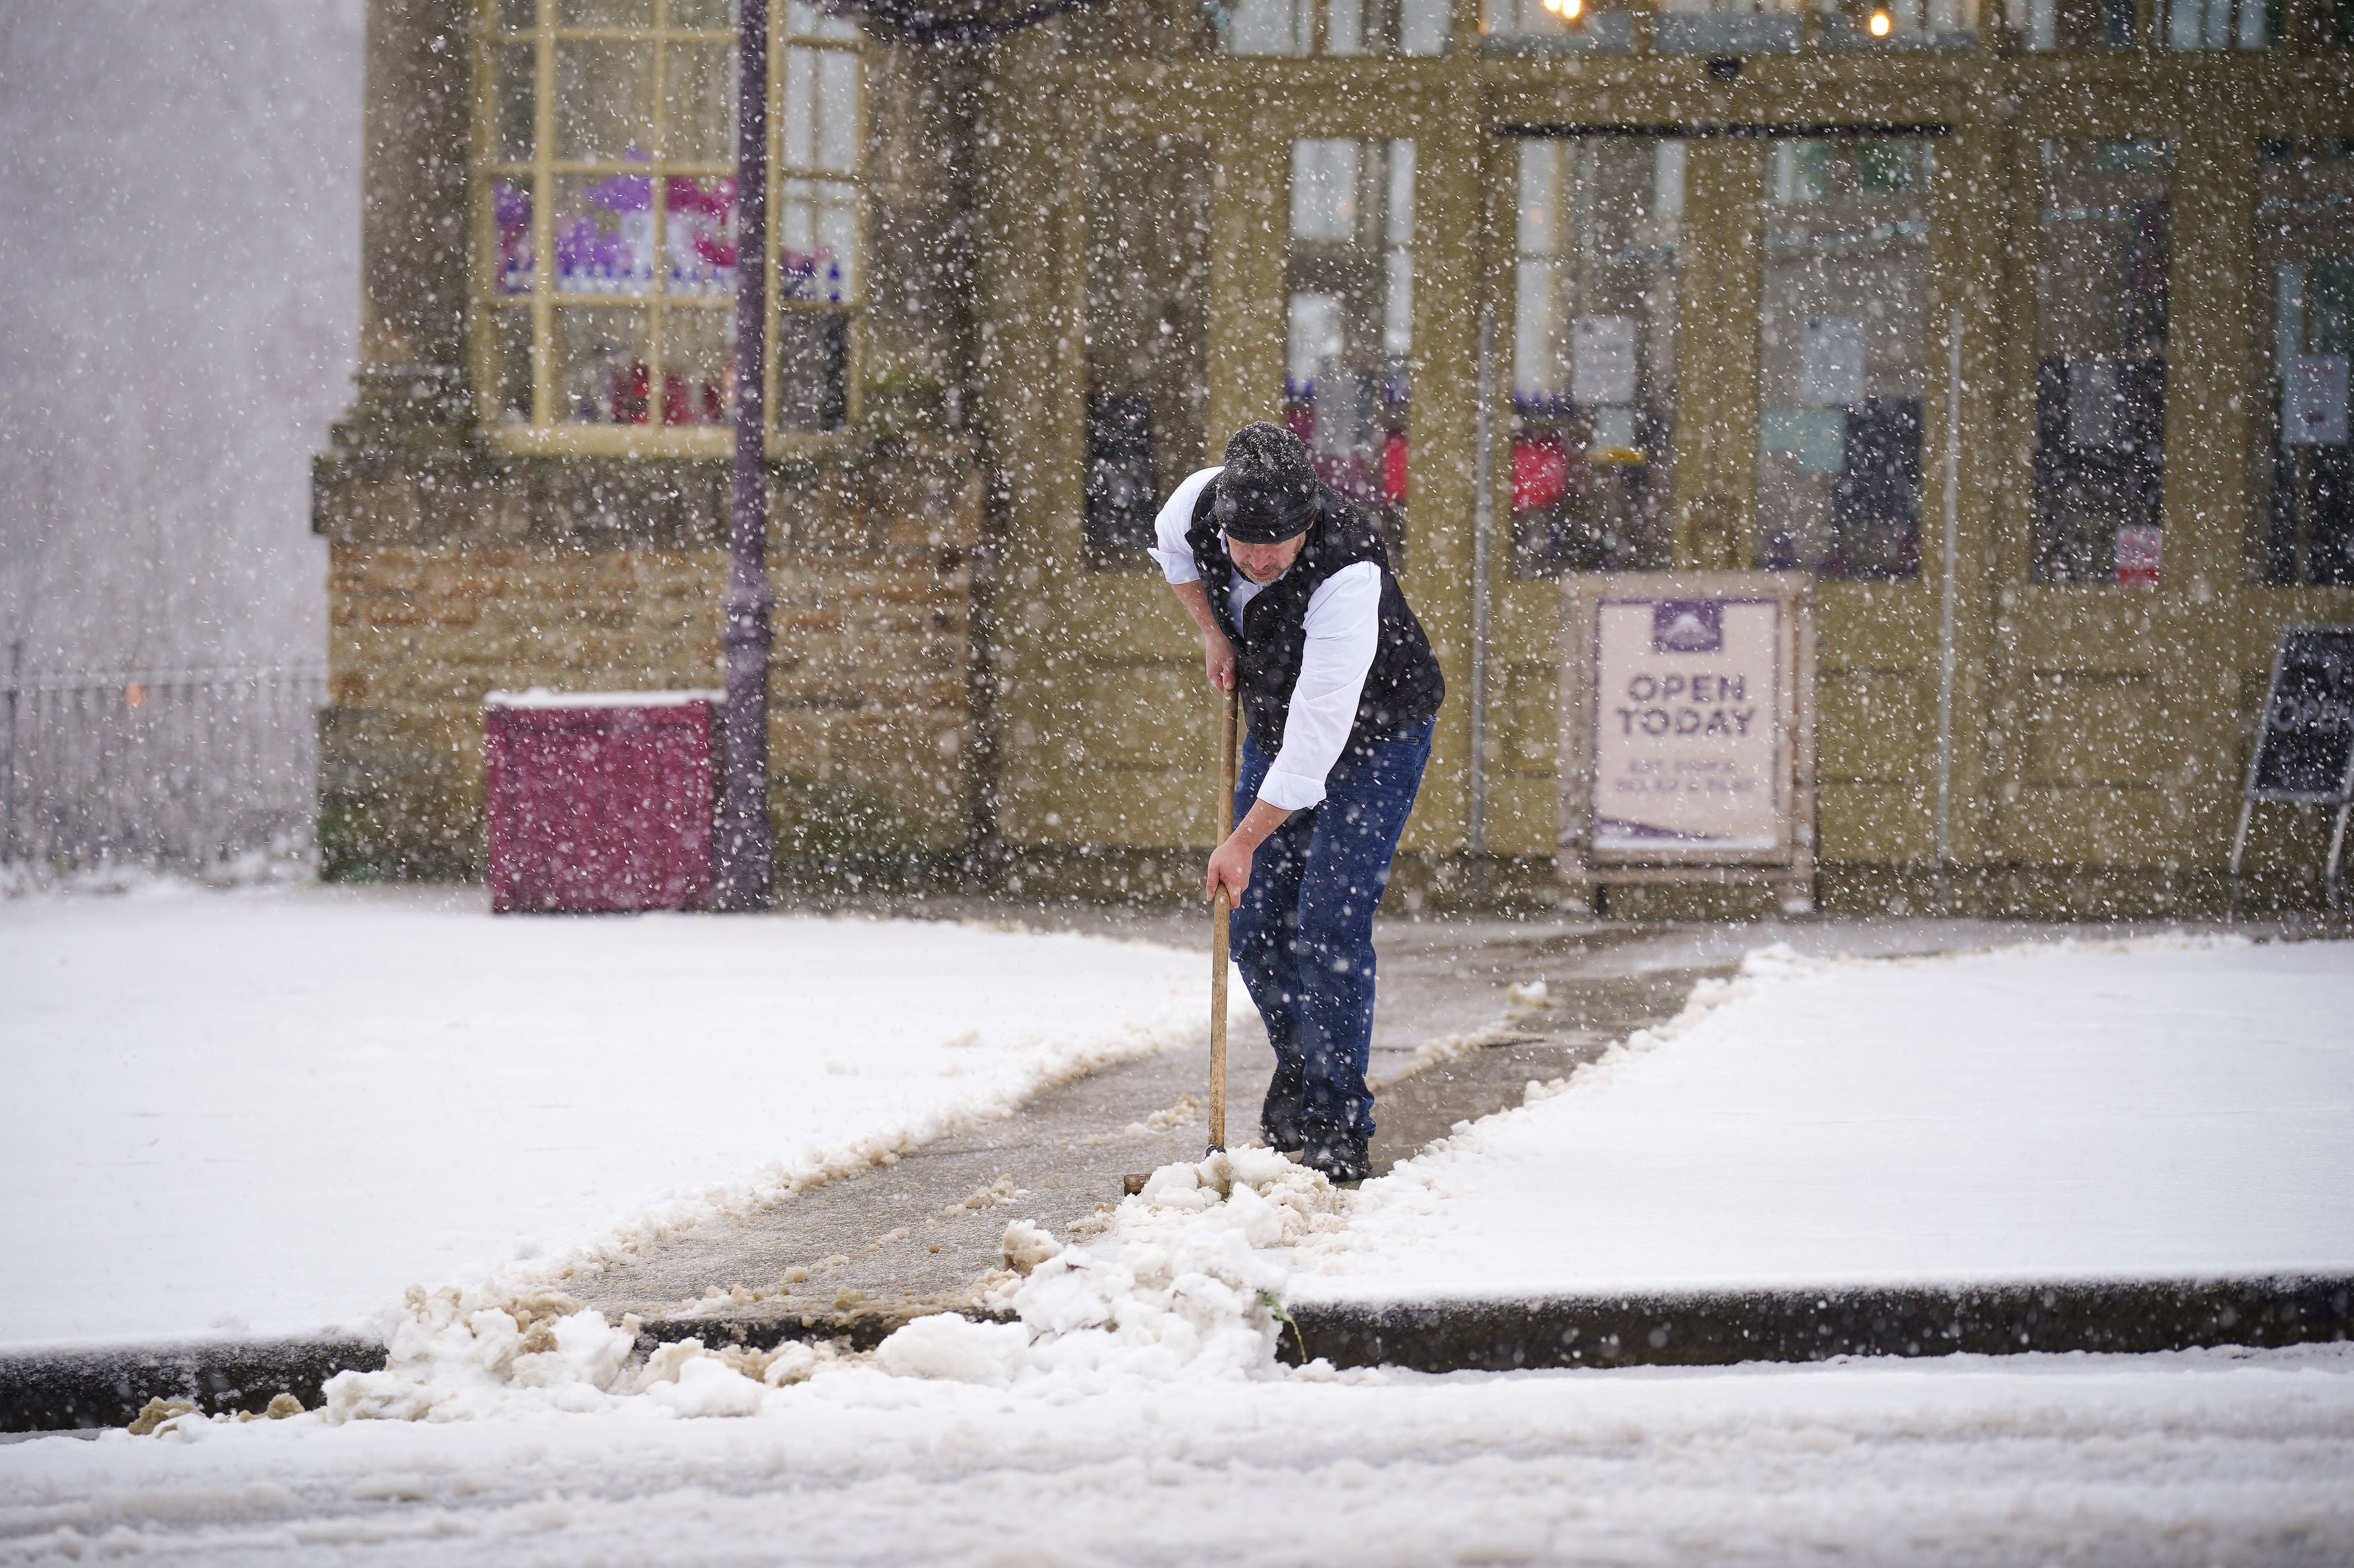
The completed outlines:
<svg viewBox="0 0 2354 1568">
<path fill-rule="evenodd" d="M 1751 954 L 1368 1182 L 1290 1298 L 2354 1272 L 2354 943 Z"/>
</svg>

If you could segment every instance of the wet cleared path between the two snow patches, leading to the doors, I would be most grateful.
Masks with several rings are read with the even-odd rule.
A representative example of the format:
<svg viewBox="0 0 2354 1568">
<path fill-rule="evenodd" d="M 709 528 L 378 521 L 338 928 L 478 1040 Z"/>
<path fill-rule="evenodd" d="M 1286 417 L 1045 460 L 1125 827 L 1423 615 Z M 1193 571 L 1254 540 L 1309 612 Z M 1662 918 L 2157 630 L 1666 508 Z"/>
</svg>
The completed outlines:
<svg viewBox="0 0 2354 1568">
<path fill-rule="evenodd" d="M 956 919 L 1003 917 L 1003 910 L 965 900 L 925 900 L 923 910 Z M 1198 914 L 1052 907 L 1019 919 L 1208 947 Z M 1728 973 L 1744 952 L 1768 943 L 1808 954 L 1926 954 L 2128 933 L 2123 926 L 1937 919 L 1382 922 L 1375 933 L 1382 957 L 1375 1168 L 1387 1171 L 1459 1121 L 1518 1105 L 1530 1079 L 1565 1077 L 1627 1032 L 1674 1016 L 1695 980 Z M 1549 1006 L 1516 1004 L 1509 994 L 1532 980 L 1544 980 Z M 1264 1037 L 1238 1030 L 1229 1140 L 1255 1138 L 1271 1067 Z M 638 1314 L 657 1338 L 767 1340 L 810 1331 L 873 1338 L 906 1314 L 967 1302 L 1000 1267 L 998 1239 L 1008 1220 L 1033 1220 L 1059 1237 L 1073 1227 L 1085 1234 L 1090 1220 L 1118 1201 L 1125 1173 L 1198 1159 L 1205 1086 L 1208 1053 L 1198 1048 L 1102 1072 L 887 1168 L 676 1237 L 579 1281 L 574 1293 L 610 1316 Z"/>
</svg>

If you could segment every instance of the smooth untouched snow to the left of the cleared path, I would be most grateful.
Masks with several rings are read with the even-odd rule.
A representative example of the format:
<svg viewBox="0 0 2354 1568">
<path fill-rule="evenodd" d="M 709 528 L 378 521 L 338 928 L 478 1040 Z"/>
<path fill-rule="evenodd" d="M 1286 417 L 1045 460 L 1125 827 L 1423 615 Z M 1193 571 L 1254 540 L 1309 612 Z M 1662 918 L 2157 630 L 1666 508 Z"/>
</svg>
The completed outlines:
<svg viewBox="0 0 2354 1568">
<path fill-rule="evenodd" d="M 1198 1037 L 1205 992 L 1198 954 L 923 922 L 7 900 L 0 1345 L 548 1272 Z"/>
</svg>

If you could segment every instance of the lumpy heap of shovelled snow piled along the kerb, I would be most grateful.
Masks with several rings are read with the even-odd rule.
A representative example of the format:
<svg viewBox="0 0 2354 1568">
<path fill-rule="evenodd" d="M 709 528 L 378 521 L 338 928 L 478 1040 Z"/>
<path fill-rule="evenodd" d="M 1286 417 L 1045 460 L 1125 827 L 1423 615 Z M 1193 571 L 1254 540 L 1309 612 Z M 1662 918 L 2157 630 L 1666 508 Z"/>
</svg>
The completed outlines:
<svg viewBox="0 0 2354 1568">
<path fill-rule="evenodd" d="M 1323 1175 L 1269 1150 L 1163 1166 L 1085 1246 L 1062 1246 L 1026 1220 L 1008 1225 L 1010 1267 L 977 1302 L 1005 1321 L 920 1316 L 871 1354 L 680 1340 L 640 1363 L 631 1356 L 636 1319 L 610 1324 L 567 1295 L 410 1291 L 386 1368 L 334 1375 L 320 1420 L 786 1413 L 796 1401 L 767 1392 L 819 1375 L 843 1385 L 838 1401 L 885 1406 L 904 1401 L 892 1380 L 1071 1399 L 1274 1378 L 1283 1375 L 1274 1352 L 1285 1284 L 1276 1253 L 1335 1229 L 1337 1197 Z"/>
</svg>

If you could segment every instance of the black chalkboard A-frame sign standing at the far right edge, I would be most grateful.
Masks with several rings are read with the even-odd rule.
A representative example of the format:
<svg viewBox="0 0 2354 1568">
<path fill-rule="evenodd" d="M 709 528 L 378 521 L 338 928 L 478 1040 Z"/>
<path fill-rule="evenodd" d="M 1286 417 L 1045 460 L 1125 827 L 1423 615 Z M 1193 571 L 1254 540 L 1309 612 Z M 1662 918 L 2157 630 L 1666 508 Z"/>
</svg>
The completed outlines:
<svg viewBox="0 0 2354 1568">
<path fill-rule="evenodd" d="M 2260 799 L 2338 806 L 2328 858 L 2328 896 L 2338 907 L 2347 816 L 2354 813 L 2354 625 L 2290 625 L 2281 632 L 2248 762 L 2248 795 L 2232 835 L 2234 905 L 2248 816 Z"/>
</svg>

